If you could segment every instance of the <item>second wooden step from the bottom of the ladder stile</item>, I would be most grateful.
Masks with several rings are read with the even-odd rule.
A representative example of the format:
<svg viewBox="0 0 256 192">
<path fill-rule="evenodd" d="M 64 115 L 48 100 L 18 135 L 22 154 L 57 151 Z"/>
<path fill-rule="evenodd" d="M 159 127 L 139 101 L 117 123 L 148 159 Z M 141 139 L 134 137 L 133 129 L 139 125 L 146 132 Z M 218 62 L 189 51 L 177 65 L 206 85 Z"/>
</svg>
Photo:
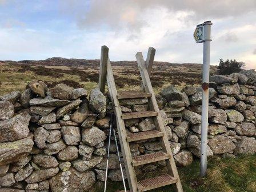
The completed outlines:
<svg viewBox="0 0 256 192">
<path fill-rule="evenodd" d="M 133 157 L 133 161 L 131 161 L 131 163 L 133 163 L 133 166 L 139 166 L 139 165 L 145 165 L 147 163 L 162 161 L 169 158 L 171 158 L 171 155 L 167 153 L 163 153 L 163 152 L 150 153 L 146 155 Z"/>
</svg>

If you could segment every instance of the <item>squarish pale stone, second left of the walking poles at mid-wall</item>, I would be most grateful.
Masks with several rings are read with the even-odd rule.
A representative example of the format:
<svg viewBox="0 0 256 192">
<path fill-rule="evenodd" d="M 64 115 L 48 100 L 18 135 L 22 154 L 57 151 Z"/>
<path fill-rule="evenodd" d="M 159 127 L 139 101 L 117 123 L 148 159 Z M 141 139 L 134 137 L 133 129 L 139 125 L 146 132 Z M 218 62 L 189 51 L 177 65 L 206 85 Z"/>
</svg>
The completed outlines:
<svg viewBox="0 0 256 192">
<path fill-rule="evenodd" d="M 63 126 L 61 133 L 67 145 L 78 145 L 81 141 L 81 134 L 79 127 Z"/>
</svg>

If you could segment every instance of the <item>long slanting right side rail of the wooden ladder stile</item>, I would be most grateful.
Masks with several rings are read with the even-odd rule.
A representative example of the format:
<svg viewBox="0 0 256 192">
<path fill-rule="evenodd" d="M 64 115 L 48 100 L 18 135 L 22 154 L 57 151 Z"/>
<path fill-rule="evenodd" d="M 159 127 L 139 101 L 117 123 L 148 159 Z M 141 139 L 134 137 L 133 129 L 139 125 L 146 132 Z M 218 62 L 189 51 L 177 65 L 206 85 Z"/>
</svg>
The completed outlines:
<svg viewBox="0 0 256 192">
<path fill-rule="evenodd" d="M 136 58 L 137 58 L 137 63 L 138 63 L 138 67 L 139 67 L 139 72 L 141 73 L 143 87 L 145 88 L 145 91 L 147 93 L 152 94 L 152 97 L 149 98 L 149 109 L 151 111 L 159 112 L 157 100 L 155 99 L 155 94 L 154 94 L 153 87 L 150 82 L 149 73 L 147 73 L 146 64 L 143 59 L 142 53 L 138 52 L 136 54 Z M 161 145 L 162 145 L 163 152 L 171 155 L 171 158 L 166 160 L 167 169 L 169 170 L 169 173 L 171 174 L 171 176 L 178 179 L 178 181 L 176 183 L 177 191 L 183 192 L 181 180 L 179 179 L 179 174 L 178 174 L 175 162 L 174 162 L 174 158 L 173 158 L 173 154 L 171 152 L 169 141 L 167 139 L 165 127 L 163 126 L 162 117 L 159 113 L 158 113 L 157 117 L 154 118 L 154 123 L 155 123 L 156 129 L 163 133 L 163 137 L 161 137 Z"/>
</svg>

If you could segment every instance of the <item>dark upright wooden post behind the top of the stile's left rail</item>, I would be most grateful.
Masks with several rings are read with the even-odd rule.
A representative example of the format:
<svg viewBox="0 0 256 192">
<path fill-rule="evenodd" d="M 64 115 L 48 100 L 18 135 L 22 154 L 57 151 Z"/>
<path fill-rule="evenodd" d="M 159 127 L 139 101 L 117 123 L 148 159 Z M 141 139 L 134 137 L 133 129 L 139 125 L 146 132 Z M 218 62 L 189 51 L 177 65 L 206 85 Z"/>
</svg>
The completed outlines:
<svg viewBox="0 0 256 192">
<path fill-rule="evenodd" d="M 109 48 L 103 45 L 101 46 L 101 62 L 99 66 L 99 90 L 101 90 L 102 93 L 105 92 L 108 58 L 109 58 Z"/>
</svg>

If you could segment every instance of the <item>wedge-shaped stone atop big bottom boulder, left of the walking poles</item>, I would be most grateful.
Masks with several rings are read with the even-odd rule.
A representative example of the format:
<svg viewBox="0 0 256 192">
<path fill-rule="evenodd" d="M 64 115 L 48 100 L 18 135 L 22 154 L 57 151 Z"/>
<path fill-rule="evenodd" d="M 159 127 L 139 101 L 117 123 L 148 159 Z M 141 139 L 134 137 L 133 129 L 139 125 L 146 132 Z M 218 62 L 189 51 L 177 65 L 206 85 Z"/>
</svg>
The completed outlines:
<svg viewBox="0 0 256 192">
<path fill-rule="evenodd" d="M 93 157 L 89 161 L 76 159 L 75 161 L 72 162 L 72 165 L 75 167 L 76 170 L 83 172 L 97 166 L 102 161 L 103 161 L 103 157 L 97 156 L 97 157 Z"/>
</svg>

